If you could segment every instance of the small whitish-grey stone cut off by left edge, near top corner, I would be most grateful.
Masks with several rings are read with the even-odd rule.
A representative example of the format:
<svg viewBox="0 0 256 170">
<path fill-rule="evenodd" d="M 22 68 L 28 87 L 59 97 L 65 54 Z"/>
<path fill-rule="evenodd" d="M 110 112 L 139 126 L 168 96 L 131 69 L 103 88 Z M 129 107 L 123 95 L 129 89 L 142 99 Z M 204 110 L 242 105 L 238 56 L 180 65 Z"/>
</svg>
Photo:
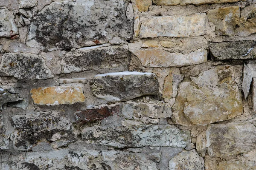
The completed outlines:
<svg viewBox="0 0 256 170">
<path fill-rule="evenodd" d="M 11 11 L 0 9 L 0 37 L 12 37 L 18 34 L 18 28 Z"/>
</svg>

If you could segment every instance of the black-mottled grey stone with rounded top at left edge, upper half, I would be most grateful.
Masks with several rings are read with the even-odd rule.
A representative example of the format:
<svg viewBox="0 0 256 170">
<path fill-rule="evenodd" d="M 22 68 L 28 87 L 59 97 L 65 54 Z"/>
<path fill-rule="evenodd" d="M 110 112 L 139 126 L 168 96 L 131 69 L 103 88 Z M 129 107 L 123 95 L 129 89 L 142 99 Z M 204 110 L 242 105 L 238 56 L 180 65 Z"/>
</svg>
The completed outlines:
<svg viewBox="0 0 256 170">
<path fill-rule="evenodd" d="M 5 53 L 0 64 L 0 72 L 18 79 L 48 79 L 52 72 L 44 59 L 36 54 Z"/>
</svg>

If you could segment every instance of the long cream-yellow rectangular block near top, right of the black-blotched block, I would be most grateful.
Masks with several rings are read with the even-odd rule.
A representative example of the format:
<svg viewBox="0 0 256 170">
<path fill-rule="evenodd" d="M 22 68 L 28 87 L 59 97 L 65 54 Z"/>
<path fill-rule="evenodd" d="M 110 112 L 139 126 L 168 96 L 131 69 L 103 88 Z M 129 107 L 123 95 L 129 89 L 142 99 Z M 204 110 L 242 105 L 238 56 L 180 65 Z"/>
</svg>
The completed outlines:
<svg viewBox="0 0 256 170">
<path fill-rule="evenodd" d="M 206 34 L 206 14 L 151 17 L 140 27 L 140 38 L 194 37 Z"/>
</svg>

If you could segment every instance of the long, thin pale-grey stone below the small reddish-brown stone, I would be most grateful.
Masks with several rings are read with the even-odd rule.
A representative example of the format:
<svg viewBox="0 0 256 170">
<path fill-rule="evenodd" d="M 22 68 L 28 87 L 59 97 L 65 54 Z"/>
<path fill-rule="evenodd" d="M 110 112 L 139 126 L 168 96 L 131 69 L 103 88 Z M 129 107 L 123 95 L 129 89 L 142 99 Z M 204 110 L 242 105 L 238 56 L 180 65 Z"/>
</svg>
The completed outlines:
<svg viewBox="0 0 256 170">
<path fill-rule="evenodd" d="M 169 146 L 186 147 L 190 131 L 172 125 L 127 125 L 119 127 L 84 127 L 82 139 L 88 144 L 102 144 L 118 148 Z"/>
</svg>

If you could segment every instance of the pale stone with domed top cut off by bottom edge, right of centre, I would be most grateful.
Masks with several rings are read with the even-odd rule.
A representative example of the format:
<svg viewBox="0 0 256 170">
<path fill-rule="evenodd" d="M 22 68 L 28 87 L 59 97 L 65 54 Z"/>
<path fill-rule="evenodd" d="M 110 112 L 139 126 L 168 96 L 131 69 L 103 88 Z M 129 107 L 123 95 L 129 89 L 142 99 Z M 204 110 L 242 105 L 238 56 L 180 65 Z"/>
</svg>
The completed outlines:
<svg viewBox="0 0 256 170">
<path fill-rule="evenodd" d="M 169 170 L 204 170 L 204 159 L 193 150 L 183 150 L 169 161 Z"/>
</svg>

